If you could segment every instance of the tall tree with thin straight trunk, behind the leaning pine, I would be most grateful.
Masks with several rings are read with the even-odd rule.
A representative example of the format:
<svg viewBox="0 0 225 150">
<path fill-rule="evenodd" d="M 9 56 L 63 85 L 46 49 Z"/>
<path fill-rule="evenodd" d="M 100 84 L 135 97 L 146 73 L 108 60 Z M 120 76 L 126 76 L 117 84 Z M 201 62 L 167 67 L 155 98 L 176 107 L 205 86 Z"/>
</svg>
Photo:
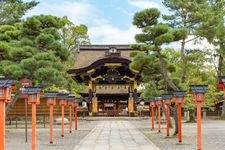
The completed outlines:
<svg viewBox="0 0 225 150">
<path fill-rule="evenodd" d="M 181 60 L 183 64 L 181 82 L 184 83 L 187 72 L 185 46 L 188 42 L 200 38 L 200 36 L 196 34 L 196 30 L 204 19 L 202 14 L 207 12 L 207 0 L 164 0 L 163 4 L 172 13 L 171 15 L 163 15 L 164 20 L 173 28 L 187 30 L 187 36 L 181 39 L 180 47 Z M 190 37 L 192 38 L 190 39 Z"/>
</svg>

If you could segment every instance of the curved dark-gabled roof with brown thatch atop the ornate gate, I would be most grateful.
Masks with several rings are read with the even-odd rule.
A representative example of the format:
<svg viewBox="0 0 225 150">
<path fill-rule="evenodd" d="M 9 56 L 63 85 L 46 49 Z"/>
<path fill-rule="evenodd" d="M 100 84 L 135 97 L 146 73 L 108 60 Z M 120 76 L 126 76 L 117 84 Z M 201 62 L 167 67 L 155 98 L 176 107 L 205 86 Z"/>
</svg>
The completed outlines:
<svg viewBox="0 0 225 150">
<path fill-rule="evenodd" d="M 140 78 L 129 68 L 131 51 L 129 45 L 81 45 L 74 68 L 67 72 L 86 84 L 128 84 Z"/>
</svg>

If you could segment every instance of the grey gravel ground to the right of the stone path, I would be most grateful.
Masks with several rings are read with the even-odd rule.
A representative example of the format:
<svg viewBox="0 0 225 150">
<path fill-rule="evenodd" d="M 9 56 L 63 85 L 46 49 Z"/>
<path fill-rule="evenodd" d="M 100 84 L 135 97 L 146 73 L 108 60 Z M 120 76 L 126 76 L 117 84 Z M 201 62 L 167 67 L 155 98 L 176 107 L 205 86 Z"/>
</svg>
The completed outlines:
<svg viewBox="0 0 225 150">
<path fill-rule="evenodd" d="M 178 143 L 177 136 L 166 137 L 166 126 L 162 125 L 161 133 L 157 133 L 157 124 L 151 131 L 150 118 L 142 121 L 133 121 L 142 133 L 155 143 L 161 150 L 196 150 L 197 127 L 196 123 L 182 123 L 183 142 Z M 173 133 L 171 130 L 170 133 Z M 202 122 L 203 150 L 225 149 L 225 120 L 205 120 Z"/>
</svg>

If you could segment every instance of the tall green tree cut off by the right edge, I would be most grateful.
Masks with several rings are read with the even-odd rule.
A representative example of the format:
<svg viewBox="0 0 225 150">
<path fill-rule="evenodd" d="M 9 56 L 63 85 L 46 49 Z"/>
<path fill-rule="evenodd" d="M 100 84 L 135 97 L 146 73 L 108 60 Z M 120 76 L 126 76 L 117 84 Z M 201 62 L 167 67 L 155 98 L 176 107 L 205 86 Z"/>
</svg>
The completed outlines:
<svg viewBox="0 0 225 150">
<path fill-rule="evenodd" d="M 210 0 L 208 13 L 204 13 L 204 21 L 201 23 L 198 34 L 205 37 L 209 43 L 215 46 L 215 57 L 218 58 L 216 65 L 217 76 L 225 74 L 225 1 Z M 225 118 L 225 102 L 222 107 L 222 117 Z"/>
</svg>

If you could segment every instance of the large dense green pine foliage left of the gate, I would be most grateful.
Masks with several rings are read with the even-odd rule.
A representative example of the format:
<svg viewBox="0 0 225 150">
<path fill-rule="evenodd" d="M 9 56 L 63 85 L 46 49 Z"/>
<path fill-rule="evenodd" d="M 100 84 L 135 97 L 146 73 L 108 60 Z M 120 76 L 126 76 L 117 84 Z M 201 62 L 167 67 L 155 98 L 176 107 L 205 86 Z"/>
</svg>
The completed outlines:
<svg viewBox="0 0 225 150">
<path fill-rule="evenodd" d="M 35 85 L 48 89 L 78 87 L 66 73 L 70 51 L 60 35 L 65 26 L 64 18 L 51 15 L 1 25 L 0 74 L 18 80 L 29 78 Z"/>
</svg>

